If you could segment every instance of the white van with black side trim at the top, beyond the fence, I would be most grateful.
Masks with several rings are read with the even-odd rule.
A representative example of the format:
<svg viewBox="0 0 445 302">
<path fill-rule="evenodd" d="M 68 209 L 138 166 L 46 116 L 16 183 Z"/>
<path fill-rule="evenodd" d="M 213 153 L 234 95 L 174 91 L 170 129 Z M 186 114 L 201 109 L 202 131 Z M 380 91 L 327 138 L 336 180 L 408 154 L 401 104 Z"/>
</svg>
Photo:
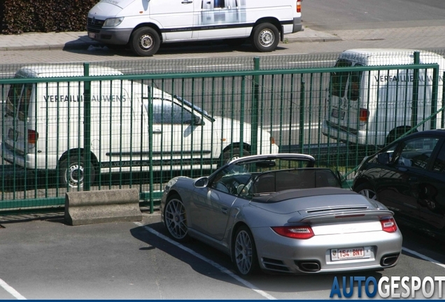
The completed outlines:
<svg viewBox="0 0 445 302">
<path fill-rule="evenodd" d="M 101 0 L 87 20 L 90 38 L 139 56 L 154 55 L 161 43 L 249 37 L 269 52 L 301 30 L 301 0 Z"/>
</svg>

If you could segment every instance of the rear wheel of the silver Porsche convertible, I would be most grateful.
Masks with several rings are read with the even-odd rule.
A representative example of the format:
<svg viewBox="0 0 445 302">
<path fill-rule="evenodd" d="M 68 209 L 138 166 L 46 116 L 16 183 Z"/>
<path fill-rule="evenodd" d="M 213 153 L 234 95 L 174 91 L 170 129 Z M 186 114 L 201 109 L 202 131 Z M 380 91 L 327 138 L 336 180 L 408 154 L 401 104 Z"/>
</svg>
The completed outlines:
<svg viewBox="0 0 445 302">
<path fill-rule="evenodd" d="M 252 232 L 245 225 L 236 230 L 232 243 L 232 259 L 239 275 L 248 276 L 258 271 L 258 255 Z"/>
</svg>

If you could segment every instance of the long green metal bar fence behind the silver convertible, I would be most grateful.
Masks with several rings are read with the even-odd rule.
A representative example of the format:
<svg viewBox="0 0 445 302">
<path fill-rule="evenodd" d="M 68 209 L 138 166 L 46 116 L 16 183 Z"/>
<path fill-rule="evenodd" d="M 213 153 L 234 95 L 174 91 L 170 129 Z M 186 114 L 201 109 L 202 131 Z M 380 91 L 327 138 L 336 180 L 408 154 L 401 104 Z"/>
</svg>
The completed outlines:
<svg viewBox="0 0 445 302">
<path fill-rule="evenodd" d="M 22 67 L 0 80 L 0 214 L 63 207 L 73 190 L 125 187 L 153 210 L 176 175 L 277 151 L 311 154 L 351 180 L 366 154 L 444 127 L 438 64 L 252 66 L 131 75 L 97 64 Z M 388 80 L 402 73 L 416 78 Z"/>
</svg>

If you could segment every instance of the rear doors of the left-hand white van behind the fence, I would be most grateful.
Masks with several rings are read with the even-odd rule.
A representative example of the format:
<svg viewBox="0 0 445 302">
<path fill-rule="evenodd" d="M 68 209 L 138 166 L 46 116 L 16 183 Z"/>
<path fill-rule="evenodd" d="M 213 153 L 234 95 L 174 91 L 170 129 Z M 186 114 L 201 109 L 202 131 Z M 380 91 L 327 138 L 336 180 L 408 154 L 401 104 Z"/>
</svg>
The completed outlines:
<svg viewBox="0 0 445 302">
<path fill-rule="evenodd" d="M 28 123 L 31 112 L 31 98 L 34 97 L 33 84 L 13 84 L 6 97 L 3 113 L 3 148 L 8 150 L 3 156 L 13 164 L 25 165 L 24 155 L 31 152 L 38 138 L 32 123 Z M 15 157 L 20 154 L 20 157 Z"/>
</svg>

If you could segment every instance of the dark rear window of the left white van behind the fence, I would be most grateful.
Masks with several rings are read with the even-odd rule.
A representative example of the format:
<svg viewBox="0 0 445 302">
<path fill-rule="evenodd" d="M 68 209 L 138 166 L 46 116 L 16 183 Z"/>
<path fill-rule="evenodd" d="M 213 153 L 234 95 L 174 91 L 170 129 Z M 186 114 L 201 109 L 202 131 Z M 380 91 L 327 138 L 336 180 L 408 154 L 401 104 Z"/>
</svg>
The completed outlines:
<svg viewBox="0 0 445 302">
<path fill-rule="evenodd" d="M 26 120 L 28 117 L 29 100 L 31 99 L 32 84 L 10 85 L 6 98 L 6 116 Z"/>
</svg>

